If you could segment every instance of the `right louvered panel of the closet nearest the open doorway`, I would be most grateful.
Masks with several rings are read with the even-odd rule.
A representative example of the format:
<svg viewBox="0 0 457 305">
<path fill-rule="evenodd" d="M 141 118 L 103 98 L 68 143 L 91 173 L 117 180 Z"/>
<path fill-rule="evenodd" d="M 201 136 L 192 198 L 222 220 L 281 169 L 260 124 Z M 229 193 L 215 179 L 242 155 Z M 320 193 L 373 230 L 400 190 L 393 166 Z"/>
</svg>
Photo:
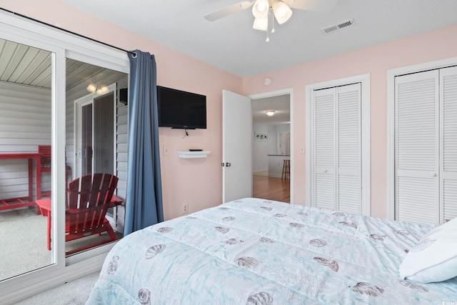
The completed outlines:
<svg viewBox="0 0 457 305">
<path fill-rule="evenodd" d="M 336 88 L 338 211 L 361 214 L 361 84 Z"/>
</svg>

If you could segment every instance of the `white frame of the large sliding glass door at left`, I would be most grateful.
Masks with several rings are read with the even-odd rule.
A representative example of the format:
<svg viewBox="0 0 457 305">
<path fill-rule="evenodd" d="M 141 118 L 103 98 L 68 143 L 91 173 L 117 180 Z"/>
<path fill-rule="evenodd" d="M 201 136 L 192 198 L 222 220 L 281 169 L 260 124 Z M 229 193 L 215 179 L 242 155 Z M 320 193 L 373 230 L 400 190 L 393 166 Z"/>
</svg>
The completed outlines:
<svg viewBox="0 0 457 305">
<path fill-rule="evenodd" d="M 54 264 L 0 281 L 2 301 L 14 303 L 49 287 L 98 271 L 114 244 L 65 257 L 65 146 L 66 146 L 66 59 L 84 61 L 106 69 L 130 73 L 125 51 L 66 33 L 52 26 L 0 11 L 0 38 L 51 52 L 51 239 Z"/>
</svg>

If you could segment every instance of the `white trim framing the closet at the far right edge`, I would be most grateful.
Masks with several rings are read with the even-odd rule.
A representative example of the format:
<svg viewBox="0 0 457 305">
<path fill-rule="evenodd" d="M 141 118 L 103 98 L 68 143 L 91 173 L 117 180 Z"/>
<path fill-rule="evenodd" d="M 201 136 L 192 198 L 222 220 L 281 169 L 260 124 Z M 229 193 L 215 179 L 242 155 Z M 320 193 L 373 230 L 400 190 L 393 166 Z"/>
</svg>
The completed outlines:
<svg viewBox="0 0 457 305">
<path fill-rule="evenodd" d="M 457 57 L 451 57 L 387 70 L 387 219 L 395 219 L 395 78 L 456 64 Z"/>
</svg>

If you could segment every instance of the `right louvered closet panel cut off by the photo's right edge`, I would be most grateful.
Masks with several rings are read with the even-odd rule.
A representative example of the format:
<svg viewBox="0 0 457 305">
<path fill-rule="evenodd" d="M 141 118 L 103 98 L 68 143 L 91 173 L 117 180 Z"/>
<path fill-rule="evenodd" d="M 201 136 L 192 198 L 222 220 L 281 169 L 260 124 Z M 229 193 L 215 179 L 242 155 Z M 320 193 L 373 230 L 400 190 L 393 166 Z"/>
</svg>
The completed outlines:
<svg viewBox="0 0 457 305">
<path fill-rule="evenodd" d="M 457 217 L 457 67 L 440 70 L 441 219 Z"/>
</svg>

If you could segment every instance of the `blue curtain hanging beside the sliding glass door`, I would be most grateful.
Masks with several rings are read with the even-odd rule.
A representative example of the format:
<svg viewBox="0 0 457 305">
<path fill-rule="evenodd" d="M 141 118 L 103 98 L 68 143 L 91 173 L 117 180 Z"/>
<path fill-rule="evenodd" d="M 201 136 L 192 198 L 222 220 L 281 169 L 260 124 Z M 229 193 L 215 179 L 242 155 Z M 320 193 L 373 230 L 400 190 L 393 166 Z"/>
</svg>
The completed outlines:
<svg viewBox="0 0 457 305">
<path fill-rule="evenodd" d="M 124 236 L 164 221 L 157 115 L 156 59 L 129 53 L 129 159 Z"/>
</svg>

